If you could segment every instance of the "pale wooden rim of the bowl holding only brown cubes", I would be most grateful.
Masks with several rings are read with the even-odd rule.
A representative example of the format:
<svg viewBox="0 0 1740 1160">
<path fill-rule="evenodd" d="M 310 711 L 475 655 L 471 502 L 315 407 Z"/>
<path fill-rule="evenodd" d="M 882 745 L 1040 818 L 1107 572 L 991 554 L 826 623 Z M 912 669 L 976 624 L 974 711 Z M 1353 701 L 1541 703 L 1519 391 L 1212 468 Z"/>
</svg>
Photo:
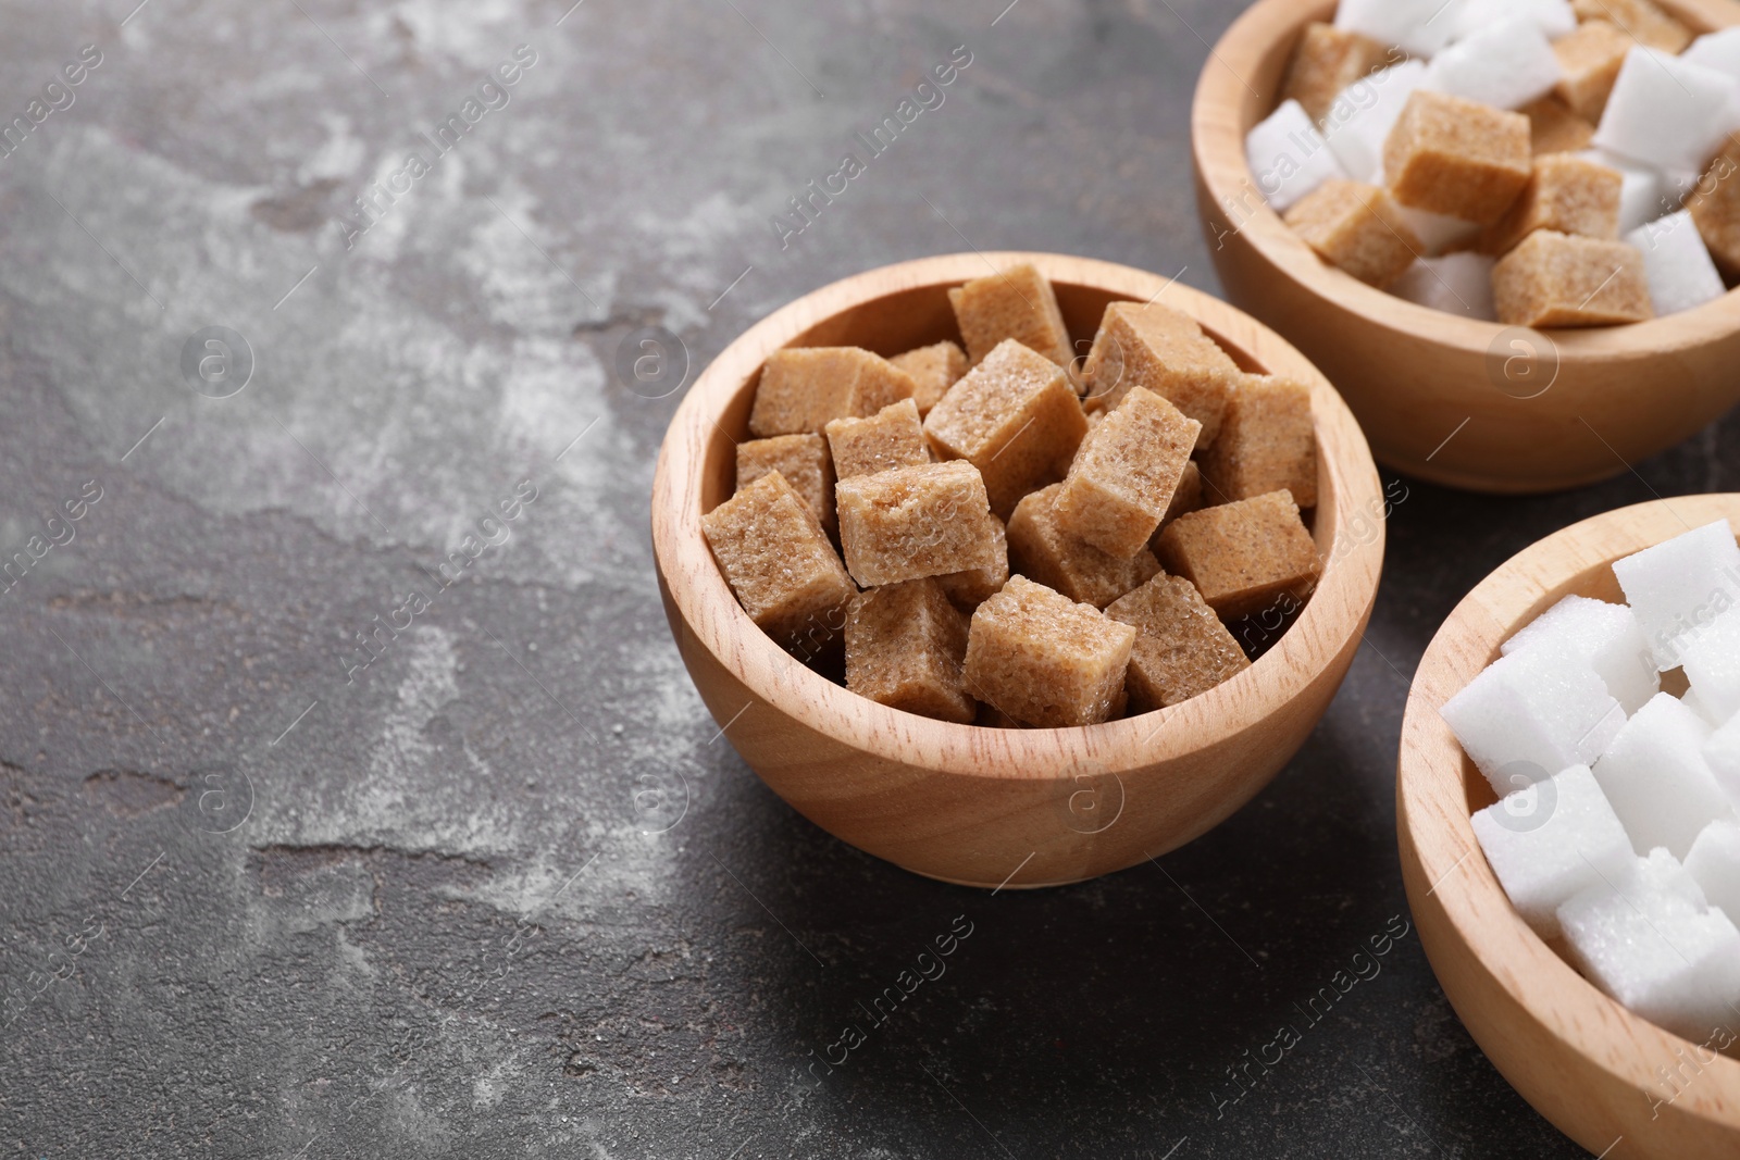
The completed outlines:
<svg viewBox="0 0 1740 1160">
<path fill-rule="evenodd" d="M 1305 610 L 1256 664 L 1183 704 L 1101 725 L 1020 730 L 955 725 L 877 704 L 811 671 L 757 628 L 701 534 L 699 464 L 706 440 L 715 430 L 729 438 L 715 419 L 746 390 L 769 353 L 849 310 L 910 290 L 940 292 L 1018 263 L 1035 264 L 1058 285 L 1129 301 L 1164 297 L 1255 365 L 1312 386 L 1319 492 L 1335 499 L 1319 503 L 1315 517 L 1322 577 Z M 1256 725 L 1272 706 L 1303 694 L 1362 633 L 1376 600 L 1385 543 L 1382 503 L 1371 450 L 1340 395 L 1303 355 L 1249 315 L 1176 277 L 1061 254 L 974 250 L 842 278 L 774 311 L 720 351 L 665 433 L 652 483 L 652 546 L 668 597 L 694 640 L 769 708 L 860 751 L 905 763 L 992 779 L 1041 779 L 1082 765 L 1119 772 L 1169 762 Z M 1362 508 L 1369 537 L 1352 530 Z"/>
</svg>

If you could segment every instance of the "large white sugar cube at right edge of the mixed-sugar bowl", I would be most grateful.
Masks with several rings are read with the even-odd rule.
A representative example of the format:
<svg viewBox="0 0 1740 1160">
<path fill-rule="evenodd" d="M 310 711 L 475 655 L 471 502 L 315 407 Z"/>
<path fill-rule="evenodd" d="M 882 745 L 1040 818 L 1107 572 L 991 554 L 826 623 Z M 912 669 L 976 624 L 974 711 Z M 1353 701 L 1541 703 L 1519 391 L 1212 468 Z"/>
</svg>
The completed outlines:
<svg viewBox="0 0 1740 1160">
<path fill-rule="evenodd" d="M 1702 170 L 1733 125 L 1735 80 L 1632 45 L 1594 143 L 1667 172 Z"/>
</svg>

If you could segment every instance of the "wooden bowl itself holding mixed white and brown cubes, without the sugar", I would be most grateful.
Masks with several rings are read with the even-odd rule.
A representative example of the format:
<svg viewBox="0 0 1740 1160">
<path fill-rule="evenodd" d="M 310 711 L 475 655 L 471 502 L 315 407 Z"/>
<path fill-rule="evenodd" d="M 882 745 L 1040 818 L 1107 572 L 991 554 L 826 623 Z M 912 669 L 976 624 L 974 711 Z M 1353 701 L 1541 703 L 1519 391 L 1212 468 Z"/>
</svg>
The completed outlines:
<svg viewBox="0 0 1740 1160">
<path fill-rule="evenodd" d="M 1658 2 L 1703 31 L 1740 23 L 1733 0 Z M 1300 31 L 1333 12 L 1262 0 L 1209 54 L 1190 118 L 1197 212 L 1227 297 L 1329 376 L 1383 464 L 1481 492 L 1580 487 L 1740 400 L 1740 296 L 1536 332 L 1416 306 L 1319 259 L 1256 195 L 1244 136 L 1274 111 Z"/>
</svg>

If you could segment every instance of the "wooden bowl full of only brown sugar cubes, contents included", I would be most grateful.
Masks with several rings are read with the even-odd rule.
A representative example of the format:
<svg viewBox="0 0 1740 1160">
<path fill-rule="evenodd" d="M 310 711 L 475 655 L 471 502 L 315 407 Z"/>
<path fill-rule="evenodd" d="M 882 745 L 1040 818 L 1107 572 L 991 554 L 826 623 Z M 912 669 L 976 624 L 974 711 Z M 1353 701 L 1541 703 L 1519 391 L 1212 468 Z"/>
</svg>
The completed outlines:
<svg viewBox="0 0 1740 1160">
<path fill-rule="evenodd" d="M 1359 647 L 1385 494 L 1296 350 L 1161 277 L 959 254 L 736 339 L 659 452 L 672 633 L 720 734 L 907 870 L 1079 882 L 1218 824 Z"/>
</svg>

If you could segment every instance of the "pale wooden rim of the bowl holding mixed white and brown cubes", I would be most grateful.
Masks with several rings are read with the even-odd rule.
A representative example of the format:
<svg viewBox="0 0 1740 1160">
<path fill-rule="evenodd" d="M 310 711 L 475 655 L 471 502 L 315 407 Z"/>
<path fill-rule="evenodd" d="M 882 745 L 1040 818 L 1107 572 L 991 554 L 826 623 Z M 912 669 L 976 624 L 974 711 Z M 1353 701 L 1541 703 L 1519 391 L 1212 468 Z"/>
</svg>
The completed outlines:
<svg viewBox="0 0 1740 1160">
<path fill-rule="evenodd" d="M 1740 0 L 1658 0 L 1681 19 L 1702 28 L 1740 24 Z M 1256 191 L 1244 153 L 1242 110 L 1256 90 L 1244 80 L 1275 52 L 1293 43 L 1310 21 L 1329 19 L 1336 0 L 1258 0 L 1225 31 L 1197 77 L 1190 108 L 1190 148 L 1197 174 L 1218 212 L 1239 223 L 1230 209 L 1255 198 L 1232 235 L 1244 237 L 1270 264 L 1312 294 L 1329 299 L 1361 318 L 1408 334 L 1429 334 L 1444 346 L 1470 353 L 1491 351 L 1500 336 L 1521 330 L 1550 336 L 1561 360 L 1613 360 L 1684 350 L 1709 343 L 1714 334 L 1740 330 L 1740 289 L 1674 315 L 1618 327 L 1549 327 L 1533 330 L 1503 322 L 1486 322 L 1432 310 L 1389 294 L 1317 257 Z M 1263 99 L 1263 117 L 1272 111 Z M 1249 203 L 1248 200 L 1244 203 Z M 1208 219 L 1204 217 L 1204 224 Z M 1225 235 L 1209 243 L 1225 245 Z"/>
</svg>

